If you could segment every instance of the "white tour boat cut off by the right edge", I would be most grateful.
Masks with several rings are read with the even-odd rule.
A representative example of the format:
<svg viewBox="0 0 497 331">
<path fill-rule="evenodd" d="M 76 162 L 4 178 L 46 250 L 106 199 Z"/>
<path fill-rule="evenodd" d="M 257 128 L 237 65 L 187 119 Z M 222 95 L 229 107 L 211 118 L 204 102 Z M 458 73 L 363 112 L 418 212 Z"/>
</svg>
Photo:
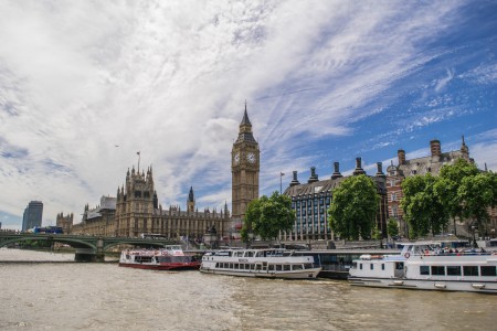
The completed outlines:
<svg viewBox="0 0 497 331">
<path fill-rule="evenodd" d="M 400 255 L 360 256 L 348 279 L 356 286 L 497 293 L 497 255 L 410 243 Z"/>
</svg>

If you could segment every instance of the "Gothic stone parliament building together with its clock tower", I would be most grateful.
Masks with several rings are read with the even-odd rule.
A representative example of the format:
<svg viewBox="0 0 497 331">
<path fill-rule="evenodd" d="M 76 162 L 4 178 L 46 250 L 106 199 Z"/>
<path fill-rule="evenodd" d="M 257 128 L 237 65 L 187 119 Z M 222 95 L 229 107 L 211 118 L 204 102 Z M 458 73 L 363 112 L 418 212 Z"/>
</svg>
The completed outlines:
<svg viewBox="0 0 497 331">
<path fill-rule="evenodd" d="M 220 236 L 226 236 L 233 224 L 243 220 L 248 202 L 258 197 L 258 143 L 252 134 L 245 105 L 231 158 L 233 215 L 230 215 L 226 203 L 221 211 L 199 211 L 193 188 L 190 188 L 186 210 L 178 205 L 162 209 L 152 168 L 145 171 L 133 167 L 116 196 L 102 196 L 99 205 L 94 209 L 86 204 L 78 224 L 73 224 L 72 213 L 57 214 L 56 224 L 63 227 L 64 233 L 81 235 L 138 237 L 142 233 L 154 233 L 172 239 L 200 241 L 208 228 L 215 228 Z"/>
</svg>

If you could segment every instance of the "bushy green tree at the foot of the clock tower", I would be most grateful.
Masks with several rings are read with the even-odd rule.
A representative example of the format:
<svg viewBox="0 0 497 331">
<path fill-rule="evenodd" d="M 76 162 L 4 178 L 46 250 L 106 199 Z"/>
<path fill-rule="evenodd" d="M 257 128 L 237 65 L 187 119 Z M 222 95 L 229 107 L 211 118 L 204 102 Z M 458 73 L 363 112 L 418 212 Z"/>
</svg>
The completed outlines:
<svg viewBox="0 0 497 331">
<path fill-rule="evenodd" d="M 246 242 L 248 233 L 261 236 L 262 239 L 273 239 L 281 231 L 289 231 L 295 224 L 295 212 L 292 200 L 275 191 L 269 197 L 261 196 L 248 203 L 242 238 Z"/>
</svg>

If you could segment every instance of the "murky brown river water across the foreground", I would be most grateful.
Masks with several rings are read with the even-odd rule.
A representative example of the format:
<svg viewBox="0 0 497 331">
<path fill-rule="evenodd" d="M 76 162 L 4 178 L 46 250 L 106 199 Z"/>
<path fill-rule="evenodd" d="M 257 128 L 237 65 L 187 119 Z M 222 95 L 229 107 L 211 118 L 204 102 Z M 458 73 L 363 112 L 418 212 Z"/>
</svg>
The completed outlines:
<svg viewBox="0 0 497 331">
<path fill-rule="evenodd" d="M 497 323 L 491 295 L 152 271 L 73 258 L 0 248 L 0 329 L 495 330 Z M 27 263 L 10 263 L 19 260 Z M 54 263 L 36 263 L 46 260 Z"/>
</svg>

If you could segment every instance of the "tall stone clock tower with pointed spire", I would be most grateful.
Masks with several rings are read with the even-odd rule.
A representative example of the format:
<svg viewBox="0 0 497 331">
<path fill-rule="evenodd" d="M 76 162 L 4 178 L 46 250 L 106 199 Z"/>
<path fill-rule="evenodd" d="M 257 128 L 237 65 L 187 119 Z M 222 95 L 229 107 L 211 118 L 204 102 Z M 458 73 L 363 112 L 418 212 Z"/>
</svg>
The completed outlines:
<svg viewBox="0 0 497 331">
<path fill-rule="evenodd" d="M 233 143 L 231 151 L 232 173 L 232 217 L 243 220 L 247 204 L 258 197 L 258 170 L 260 170 L 258 143 L 252 135 L 252 124 L 246 114 L 243 114 L 240 124 L 239 138 Z"/>
</svg>

